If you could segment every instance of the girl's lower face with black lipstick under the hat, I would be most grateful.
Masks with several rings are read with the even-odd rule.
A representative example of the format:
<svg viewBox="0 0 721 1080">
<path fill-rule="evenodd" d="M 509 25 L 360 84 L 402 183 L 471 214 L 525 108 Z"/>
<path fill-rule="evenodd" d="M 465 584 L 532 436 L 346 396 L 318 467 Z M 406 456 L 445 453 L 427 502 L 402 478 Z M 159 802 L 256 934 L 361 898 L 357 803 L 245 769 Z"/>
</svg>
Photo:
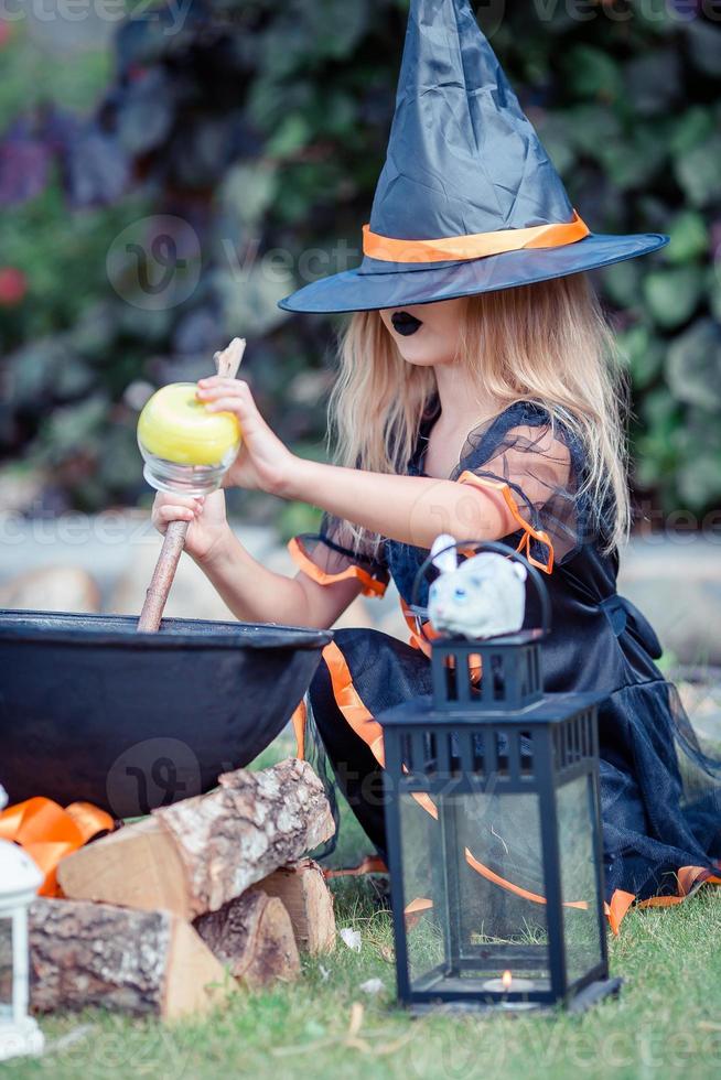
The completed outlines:
<svg viewBox="0 0 721 1080">
<path fill-rule="evenodd" d="M 385 307 L 380 317 L 405 360 L 434 367 L 455 360 L 465 305 L 466 300 L 462 298 L 435 304 Z"/>
</svg>

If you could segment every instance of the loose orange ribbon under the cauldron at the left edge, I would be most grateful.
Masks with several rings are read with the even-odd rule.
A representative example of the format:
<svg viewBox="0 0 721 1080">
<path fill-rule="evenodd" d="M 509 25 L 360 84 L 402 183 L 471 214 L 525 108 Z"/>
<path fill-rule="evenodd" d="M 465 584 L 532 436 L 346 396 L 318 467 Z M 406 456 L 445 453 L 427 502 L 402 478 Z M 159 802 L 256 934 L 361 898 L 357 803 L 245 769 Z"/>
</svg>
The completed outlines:
<svg viewBox="0 0 721 1080">
<path fill-rule="evenodd" d="M 0 813 L 0 838 L 20 844 L 45 875 L 40 896 L 57 896 L 57 864 L 100 832 L 115 829 L 115 821 L 92 802 L 72 802 L 63 810 L 57 802 L 37 796 L 8 807 Z"/>
</svg>

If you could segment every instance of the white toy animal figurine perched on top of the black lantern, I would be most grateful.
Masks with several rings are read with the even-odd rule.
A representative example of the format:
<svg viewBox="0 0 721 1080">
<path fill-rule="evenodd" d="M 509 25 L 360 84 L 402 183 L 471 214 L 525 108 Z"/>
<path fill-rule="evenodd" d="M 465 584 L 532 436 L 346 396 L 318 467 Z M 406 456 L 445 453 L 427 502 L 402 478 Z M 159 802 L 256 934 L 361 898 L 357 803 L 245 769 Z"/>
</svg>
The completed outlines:
<svg viewBox="0 0 721 1080">
<path fill-rule="evenodd" d="M 442 534 L 431 548 L 433 565 L 441 571 L 428 594 L 433 628 L 471 639 L 517 633 L 526 613 L 526 568 L 493 551 L 459 563 L 450 547 L 454 543 Z"/>
</svg>

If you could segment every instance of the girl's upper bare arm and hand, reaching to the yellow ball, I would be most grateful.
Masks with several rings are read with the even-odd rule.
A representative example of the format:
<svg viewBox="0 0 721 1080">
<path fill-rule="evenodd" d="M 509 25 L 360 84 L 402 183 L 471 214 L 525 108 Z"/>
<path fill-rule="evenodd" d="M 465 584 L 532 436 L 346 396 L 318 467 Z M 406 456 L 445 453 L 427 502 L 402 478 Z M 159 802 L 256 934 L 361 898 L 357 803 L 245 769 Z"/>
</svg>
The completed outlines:
<svg viewBox="0 0 721 1080">
<path fill-rule="evenodd" d="M 243 446 L 229 483 L 322 507 L 355 525 L 419 548 L 441 532 L 496 540 L 517 529 L 504 499 L 454 480 L 391 476 L 295 457 L 258 412 L 246 382 L 215 376 L 198 384 L 214 412 L 234 412 Z"/>
</svg>

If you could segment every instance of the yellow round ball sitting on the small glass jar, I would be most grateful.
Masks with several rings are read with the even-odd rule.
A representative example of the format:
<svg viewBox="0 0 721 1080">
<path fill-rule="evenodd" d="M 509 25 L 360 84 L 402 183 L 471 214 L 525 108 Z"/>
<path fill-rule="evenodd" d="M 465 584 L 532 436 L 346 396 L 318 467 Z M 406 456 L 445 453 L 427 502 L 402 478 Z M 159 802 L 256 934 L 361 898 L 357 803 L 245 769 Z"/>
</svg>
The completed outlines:
<svg viewBox="0 0 721 1080">
<path fill-rule="evenodd" d="M 172 382 L 146 403 L 138 420 L 144 455 L 176 465 L 220 465 L 235 457 L 240 426 L 232 412 L 208 412 L 194 382 Z"/>
</svg>

